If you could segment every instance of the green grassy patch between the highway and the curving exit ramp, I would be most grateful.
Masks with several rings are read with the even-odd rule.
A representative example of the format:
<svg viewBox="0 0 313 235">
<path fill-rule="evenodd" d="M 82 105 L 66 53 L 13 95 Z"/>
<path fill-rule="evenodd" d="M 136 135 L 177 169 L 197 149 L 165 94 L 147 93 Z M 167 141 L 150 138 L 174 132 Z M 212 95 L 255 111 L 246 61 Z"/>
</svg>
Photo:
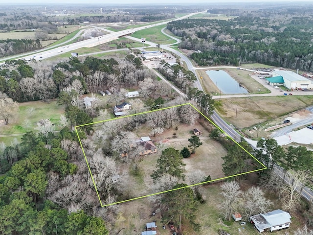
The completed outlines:
<svg viewBox="0 0 313 235">
<path fill-rule="evenodd" d="M 176 43 L 176 40 L 171 39 L 164 34 L 162 34 L 161 29 L 164 28 L 164 25 L 159 25 L 147 29 L 142 29 L 136 31 L 132 34 L 135 38 L 146 38 L 147 41 L 151 41 L 159 44 L 172 44 Z"/>
</svg>

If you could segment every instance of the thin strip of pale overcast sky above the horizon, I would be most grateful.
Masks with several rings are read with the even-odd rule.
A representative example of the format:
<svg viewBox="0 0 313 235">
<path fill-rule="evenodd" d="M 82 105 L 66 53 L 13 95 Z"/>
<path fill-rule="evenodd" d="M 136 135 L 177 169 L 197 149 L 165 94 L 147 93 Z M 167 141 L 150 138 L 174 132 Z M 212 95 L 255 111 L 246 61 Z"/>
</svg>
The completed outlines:
<svg viewBox="0 0 313 235">
<path fill-rule="evenodd" d="M 312 1 L 312 0 L 117 0 L 113 1 L 113 4 L 179 4 L 179 3 L 207 3 L 207 4 L 218 4 L 219 2 L 300 2 L 300 1 Z M 76 3 L 76 4 L 100 4 L 100 5 L 109 5 L 109 0 L 0 0 L 2 4 L 10 3 Z M 1 10 L 0 10 L 1 11 Z"/>
</svg>

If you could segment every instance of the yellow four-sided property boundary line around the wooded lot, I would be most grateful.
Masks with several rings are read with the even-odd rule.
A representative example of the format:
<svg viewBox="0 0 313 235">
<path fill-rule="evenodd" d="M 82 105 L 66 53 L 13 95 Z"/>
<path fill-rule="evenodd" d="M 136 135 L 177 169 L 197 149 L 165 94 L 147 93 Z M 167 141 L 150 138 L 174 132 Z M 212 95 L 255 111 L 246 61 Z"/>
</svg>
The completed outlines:
<svg viewBox="0 0 313 235">
<path fill-rule="evenodd" d="M 153 195 L 158 195 L 158 194 L 165 193 L 165 192 L 171 192 L 171 191 L 178 190 L 178 189 L 181 189 L 181 188 L 175 188 L 175 189 L 170 189 L 170 190 L 166 190 L 166 191 L 162 191 L 162 192 L 156 192 L 156 193 L 152 193 L 152 194 L 145 195 L 145 196 L 140 196 L 140 197 L 136 197 L 136 198 L 132 198 L 132 199 L 120 201 L 120 202 L 114 202 L 114 203 L 110 203 L 110 204 L 103 205 L 102 202 L 101 202 L 101 199 L 100 199 L 100 195 L 99 195 L 98 189 L 97 189 L 96 184 L 95 184 L 95 182 L 94 182 L 94 179 L 93 179 L 93 176 L 92 176 L 92 173 L 91 173 L 91 170 L 90 170 L 90 166 L 89 166 L 89 163 L 88 163 L 88 160 L 87 160 L 87 157 L 86 157 L 86 154 L 85 154 L 85 151 L 84 151 L 84 148 L 83 148 L 81 139 L 80 139 L 80 137 L 79 137 L 77 128 L 78 128 L 78 127 L 82 127 L 82 126 L 91 125 L 91 124 L 97 124 L 97 123 L 101 123 L 101 122 L 116 120 L 116 119 L 120 119 L 120 118 L 128 118 L 128 117 L 132 117 L 132 116 L 136 116 L 136 115 L 140 115 L 140 114 L 147 114 L 147 113 L 152 113 L 152 112 L 156 112 L 156 111 L 160 111 L 160 110 L 165 110 L 165 109 L 170 109 L 170 108 L 176 108 L 176 107 L 180 107 L 180 106 L 183 106 L 183 105 L 190 105 L 191 107 L 193 107 L 193 108 L 194 108 L 197 112 L 199 112 L 204 118 L 206 118 L 212 125 L 214 125 L 216 128 L 218 128 L 218 129 L 219 129 L 222 133 L 224 133 L 224 135 L 226 135 L 230 140 L 234 141 L 237 145 L 239 145 L 243 150 L 246 151 L 247 154 L 249 154 L 255 161 L 257 161 L 259 164 L 261 164 L 264 168 L 257 169 L 257 170 L 251 170 L 251 171 L 244 172 L 244 173 L 240 173 L 240 174 L 236 174 L 236 175 L 226 176 L 226 177 L 219 178 L 219 179 L 215 179 L 215 180 L 210 180 L 210 181 L 206 181 L 206 182 L 201 182 L 201 183 L 194 184 L 194 185 L 188 185 L 188 186 L 181 187 L 181 188 L 189 188 L 189 187 L 193 187 L 193 186 L 197 186 L 197 185 L 207 184 L 207 183 L 211 183 L 211 182 L 214 182 L 214 181 L 224 180 L 224 179 L 228 179 L 228 178 L 231 178 L 231 177 L 235 177 L 235 176 L 239 176 L 239 175 L 245 175 L 245 174 L 248 174 L 248 173 L 252 173 L 252 172 L 256 172 L 256 171 L 260 171 L 260 170 L 265 170 L 265 169 L 267 169 L 267 167 L 266 167 L 264 164 L 262 164 L 259 160 L 257 160 L 252 154 L 250 154 L 250 153 L 249 153 L 245 148 L 243 148 L 238 142 L 236 142 L 236 141 L 235 141 L 234 139 L 232 139 L 229 135 L 227 135 L 227 133 L 225 133 L 224 130 L 222 130 L 220 127 L 218 127 L 215 123 L 213 123 L 213 122 L 212 122 L 209 118 L 207 118 L 205 115 L 203 115 L 203 114 L 202 114 L 195 106 L 193 106 L 191 103 L 185 103 L 185 104 L 175 105 L 175 106 L 166 107 L 166 108 L 161 108 L 161 109 L 157 109 L 157 110 L 142 112 L 142 113 L 139 113 L 139 114 L 132 114 L 132 115 L 124 116 L 124 117 L 111 118 L 111 119 L 108 119 L 108 120 L 96 121 L 96 122 L 92 122 L 92 123 L 88 123 L 88 124 L 83 124 L 83 125 L 75 126 L 75 131 L 76 131 L 76 134 L 77 134 L 77 137 L 78 137 L 80 146 L 81 146 L 81 148 L 82 148 L 82 150 L 83 150 L 83 154 L 84 154 L 84 157 L 85 157 L 85 160 L 86 160 L 88 169 L 89 169 L 89 173 L 90 173 L 90 176 L 91 176 L 91 180 L 92 180 L 93 186 L 94 186 L 94 188 L 95 188 L 95 191 L 96 191 L 96 193 L 97 193 L 98 199 L 99 199 L 99 201 L 100 201 L 101 207 L 112 206 L 112 205 L 119 204 L 119 203 L 122 203 L 122 202 L 129 202 L 129 201 L 133 201 L 133 200 L 136 200 L 136 199 L 145 198 L 145 197 L 149 197 L 149 196 L 153 196 Z"/>
</svg>

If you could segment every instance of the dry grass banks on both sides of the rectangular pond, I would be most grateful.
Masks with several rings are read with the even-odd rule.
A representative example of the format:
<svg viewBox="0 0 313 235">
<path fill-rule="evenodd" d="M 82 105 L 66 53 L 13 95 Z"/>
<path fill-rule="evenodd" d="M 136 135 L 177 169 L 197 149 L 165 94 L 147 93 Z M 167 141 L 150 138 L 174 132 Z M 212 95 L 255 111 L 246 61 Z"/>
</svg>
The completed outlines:
<svg viewBox="0 0 313 235">
<path fill-rule="evenodd" d="M 265 94 L 270 93 L 270 91 L 261 85 L 259 82 L 254 80 L 249 76 L 250 71 L 237 70 L 237 69 L 222 69 L 226 71 L 232 78 L 234 78 L 238 83 L 240 83 L 250 94 Z M 216 84 L 211 81 L 209 76 L 206 74 L 207 70 L 198 70 L 198 74 L 202 77 L 201 83 L 207 94 L 219 94 L 219 88 Z"/>
</svg>

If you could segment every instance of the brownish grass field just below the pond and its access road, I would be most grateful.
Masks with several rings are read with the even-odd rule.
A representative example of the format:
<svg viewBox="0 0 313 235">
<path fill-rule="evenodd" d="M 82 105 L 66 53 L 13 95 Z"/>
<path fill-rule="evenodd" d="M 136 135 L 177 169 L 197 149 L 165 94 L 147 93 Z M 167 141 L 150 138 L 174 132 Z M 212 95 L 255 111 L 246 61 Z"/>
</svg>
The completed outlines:
<svg viewBox="0 0 313 235">
<path fill-rule="evenodd" d="M 245 128 L 313 105 L 311 95 L 221 98 L 217 110 L 228 122 Z M 236 118 L 237 109 L 237 118 Z M 276 121 L 277 122 L 277 121 Z M 282 123 L 282 118 L 279 119 Z M 264 128 L 265 129 L 265 128 Z"/>
</svg>

